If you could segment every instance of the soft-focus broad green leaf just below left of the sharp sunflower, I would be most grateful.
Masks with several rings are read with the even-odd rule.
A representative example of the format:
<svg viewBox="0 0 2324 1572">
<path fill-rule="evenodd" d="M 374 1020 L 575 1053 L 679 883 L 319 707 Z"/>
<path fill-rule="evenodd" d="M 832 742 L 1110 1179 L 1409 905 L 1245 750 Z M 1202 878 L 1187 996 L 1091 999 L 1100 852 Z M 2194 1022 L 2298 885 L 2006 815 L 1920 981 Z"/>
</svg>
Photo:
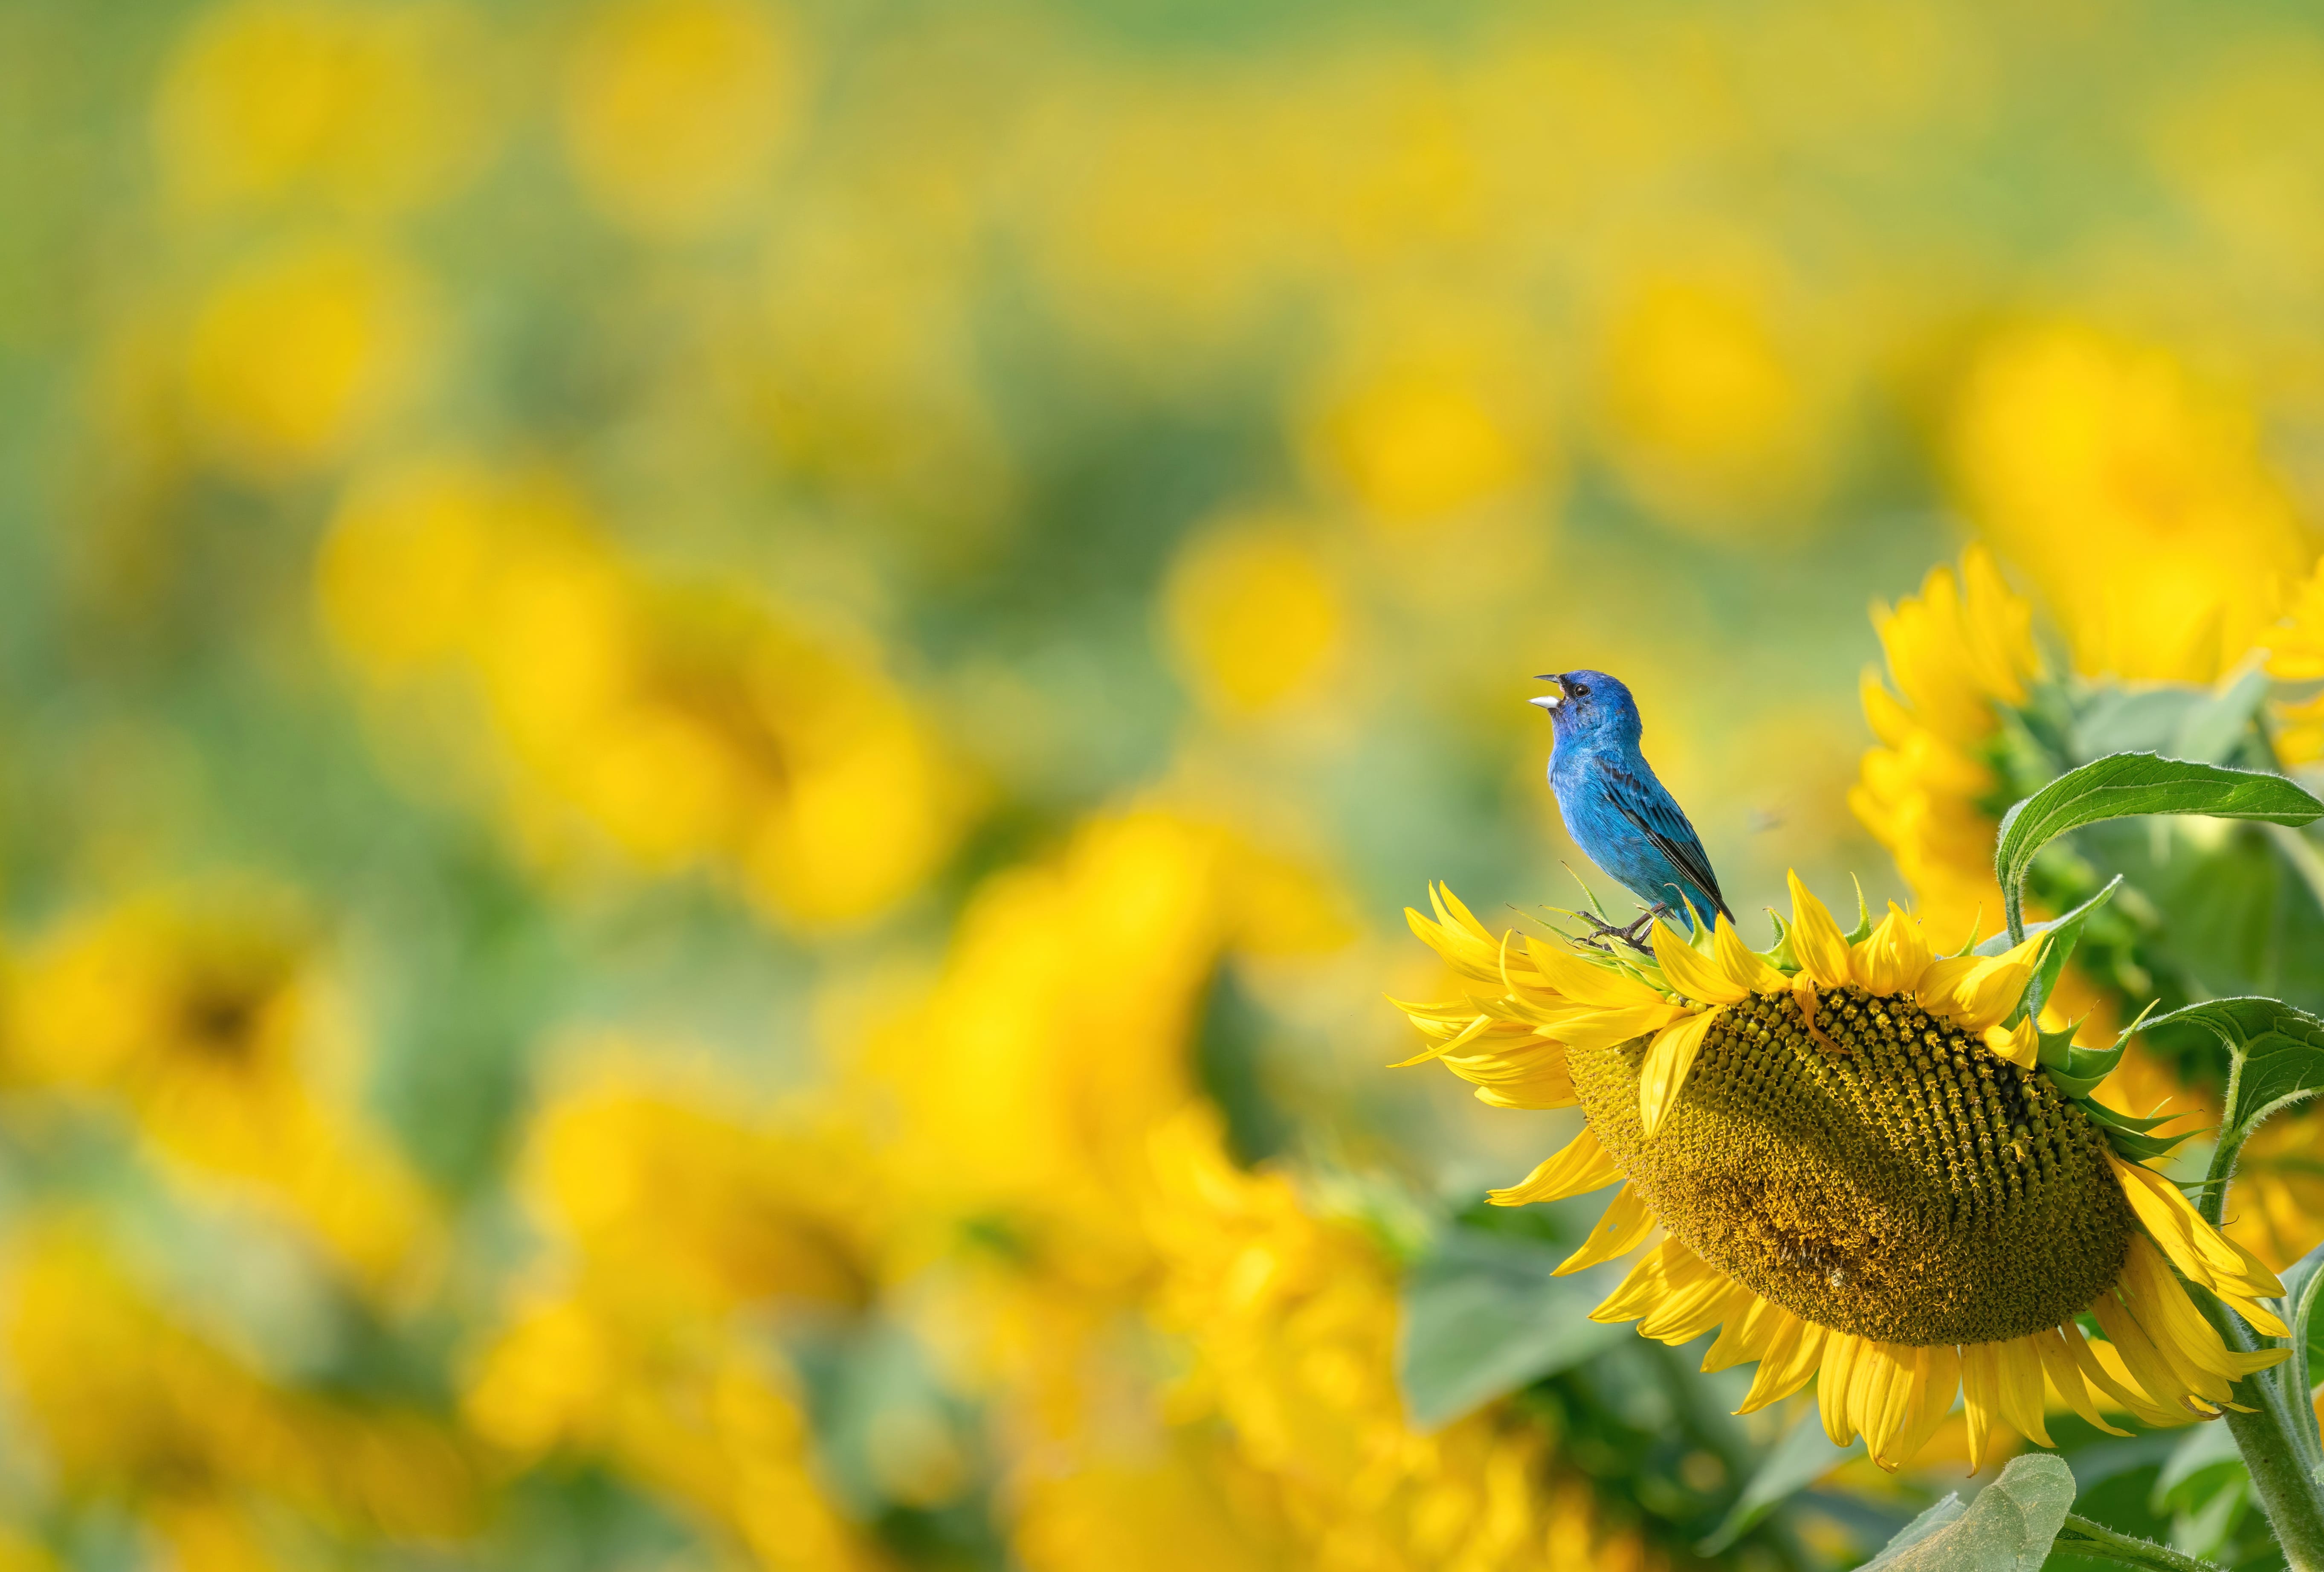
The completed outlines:
<svg viewBox="0 0 2324 1572">
<path fill-rule="evenodd" d="M 1397 1381 L 1422 1430 L 1571 1370 L 1627 1326 L 1590 1319 L 1627 1265 L 1550 1277 L 1571 1251 L 1541 1239 L 1455 1228 L 1404 1284 Z"/>
</svg>

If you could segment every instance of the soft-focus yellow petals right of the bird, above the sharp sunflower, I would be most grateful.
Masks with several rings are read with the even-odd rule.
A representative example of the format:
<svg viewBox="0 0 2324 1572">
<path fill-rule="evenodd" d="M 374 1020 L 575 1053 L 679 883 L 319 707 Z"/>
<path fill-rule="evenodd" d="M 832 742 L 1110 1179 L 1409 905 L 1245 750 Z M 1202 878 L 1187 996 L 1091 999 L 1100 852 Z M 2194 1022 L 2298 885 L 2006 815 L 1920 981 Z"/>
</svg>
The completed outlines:
<svg viewBox="0 0 2324 1572">
<path fill-rule="evenodd" d="M 1864 716 L 1880 746 L 1864 753 L 1848 807 L 1896 858 L 1922 921 L 1950 949 L 1971 926 L 1980 937 L 2001 926 L 1985 749 L 2001 730 L 1996 707 L 2024 705 L 2040 674 L 2033 607 L 1971 546 L 1959 574 L 1931 567 L 1920 595 L 1894 612 L 1873 607 L 1873 628 L 1894 693 L 1864 672 Z"/>
</svg>

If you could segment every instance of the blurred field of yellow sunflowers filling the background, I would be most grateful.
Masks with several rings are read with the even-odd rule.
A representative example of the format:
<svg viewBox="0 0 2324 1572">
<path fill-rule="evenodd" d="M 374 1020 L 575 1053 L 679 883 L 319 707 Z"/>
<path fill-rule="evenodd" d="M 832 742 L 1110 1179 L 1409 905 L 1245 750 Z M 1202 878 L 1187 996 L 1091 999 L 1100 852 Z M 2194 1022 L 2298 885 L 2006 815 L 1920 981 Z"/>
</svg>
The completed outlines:
<svg viewBox="0 0 2324 1572">
<path fill-rule="evenodd" d="M 1587 1321 L 1404 907 L 1620 898 L 1536 670 L 1755 942 L 2324 760 L 2317 102 L 2271 5 L 0 0 L 0 1570 L 1864 1563 L 1996 1449 Z M 2324 1009 L 2319 853 L 2059 842 L 2054 1002 Z"/>
</svg>

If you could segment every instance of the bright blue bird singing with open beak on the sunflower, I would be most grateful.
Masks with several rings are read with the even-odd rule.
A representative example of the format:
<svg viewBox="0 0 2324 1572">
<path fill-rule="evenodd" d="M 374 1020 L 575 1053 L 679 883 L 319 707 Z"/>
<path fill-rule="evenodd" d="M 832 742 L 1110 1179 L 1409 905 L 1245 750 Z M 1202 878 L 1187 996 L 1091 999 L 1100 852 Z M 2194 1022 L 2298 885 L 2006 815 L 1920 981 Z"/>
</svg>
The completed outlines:
<svg viewBox="0 0 2324 1572">
<path fill-rule="evenodd" d="M 1615 884 L 1648 905 L 1629 928 L 1599 923 L 1638 944 L 1662 912 L 1680 919 L 1687 907 L 1708 923 L 1734 921 L 1703 842 L 1671 800 L 1655 767 L 1638 753 L 1638 702 L 1606 672 L 1557 672 L 1557 693 L 1529 700 L 1550 712 L 1550 791 L 1566 833 Z M 1592 919 L 1597 921 L 1597 919 Z"/>
</svg>

